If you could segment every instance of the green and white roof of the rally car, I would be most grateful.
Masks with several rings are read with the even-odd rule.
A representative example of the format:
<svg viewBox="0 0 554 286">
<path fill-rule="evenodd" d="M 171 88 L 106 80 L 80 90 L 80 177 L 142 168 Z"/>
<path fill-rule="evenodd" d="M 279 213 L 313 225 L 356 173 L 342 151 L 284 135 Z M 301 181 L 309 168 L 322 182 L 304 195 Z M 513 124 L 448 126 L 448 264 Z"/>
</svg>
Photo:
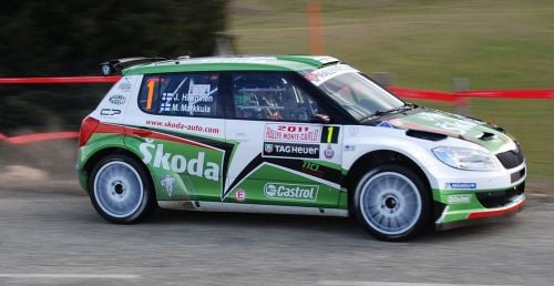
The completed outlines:
<svg viewBox="0 0 554 286">
<path fill-rule="evenodd" d="M 328 55 L 233 55 L 178 58 L 123 70 L 124 75 L 189 71 L 302 71 L 312 70 L 339 60 Z"/>
</svg>

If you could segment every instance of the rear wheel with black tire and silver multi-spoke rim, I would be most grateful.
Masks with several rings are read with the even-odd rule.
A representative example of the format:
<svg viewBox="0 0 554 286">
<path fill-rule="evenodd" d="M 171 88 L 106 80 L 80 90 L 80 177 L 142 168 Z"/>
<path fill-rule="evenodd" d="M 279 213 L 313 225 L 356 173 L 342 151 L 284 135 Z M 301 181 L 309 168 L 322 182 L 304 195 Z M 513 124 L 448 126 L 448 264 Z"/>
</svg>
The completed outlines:
<svg viewBox="0 0 554 286">
<path fill-rule="evenodd" d="M 89 177 L 89 196 L 107 222 L 132 224 L 147 217 L 155 206 L 155 193 L 143 164 L 125 154 L 100 160 Z"/>
</svg>

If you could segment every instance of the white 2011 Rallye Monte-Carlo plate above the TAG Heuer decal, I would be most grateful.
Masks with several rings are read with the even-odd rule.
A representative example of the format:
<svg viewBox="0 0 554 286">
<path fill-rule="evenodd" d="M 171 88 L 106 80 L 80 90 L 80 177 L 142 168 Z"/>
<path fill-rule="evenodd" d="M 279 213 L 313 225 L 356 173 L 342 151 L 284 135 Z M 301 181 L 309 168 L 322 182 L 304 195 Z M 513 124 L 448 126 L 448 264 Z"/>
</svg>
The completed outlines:
<svg viewBox="0 0 554 286">
<path fill-rule="evenodd" d="M 264 140 L 273 142 L 319 143 L 321 126 L 310 124 L 266 124 Z"/>
</svg>

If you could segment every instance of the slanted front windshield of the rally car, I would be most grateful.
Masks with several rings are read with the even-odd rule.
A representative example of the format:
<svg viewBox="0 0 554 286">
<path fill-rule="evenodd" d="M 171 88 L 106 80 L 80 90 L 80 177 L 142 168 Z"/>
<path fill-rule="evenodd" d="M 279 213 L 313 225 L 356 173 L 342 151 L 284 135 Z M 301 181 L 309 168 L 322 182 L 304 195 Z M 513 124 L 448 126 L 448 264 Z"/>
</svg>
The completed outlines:
<svg viewBox="0 0 554 286">
<path fill-rule="evenodd" d="M 404 102 L 359 72 L 337 74 L 319 86 L 358 121 L 398 110 Z"/>
</svg>

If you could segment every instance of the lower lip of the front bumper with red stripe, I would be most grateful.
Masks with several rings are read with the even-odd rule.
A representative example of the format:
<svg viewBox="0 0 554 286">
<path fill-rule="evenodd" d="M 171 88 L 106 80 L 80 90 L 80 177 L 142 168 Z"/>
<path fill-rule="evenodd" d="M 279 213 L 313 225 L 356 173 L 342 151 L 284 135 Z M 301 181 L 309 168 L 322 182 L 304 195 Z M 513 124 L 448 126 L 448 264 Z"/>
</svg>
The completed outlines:
<svg viewBox="0 0 554 286">
<path fill-rule="evenodd" d="M 525 202 L 526 202 L 525 195 L 521 194 L 511 198 L 511 203 L 494 208 L 450 211 L 449 206 L 447 206 L 443 211 L 441 218 L 439 218 L 439 221 L 435 223 L 435 229 L 445 231 L 451 228 L 497 222 L 506 217 L 514 216 L 516 213 L 521 212 L 525 206 Z M 444 218 L 449 216 L 465 217 L 465 218 L 452 222 L 444 222 Z"/>
</svg>

